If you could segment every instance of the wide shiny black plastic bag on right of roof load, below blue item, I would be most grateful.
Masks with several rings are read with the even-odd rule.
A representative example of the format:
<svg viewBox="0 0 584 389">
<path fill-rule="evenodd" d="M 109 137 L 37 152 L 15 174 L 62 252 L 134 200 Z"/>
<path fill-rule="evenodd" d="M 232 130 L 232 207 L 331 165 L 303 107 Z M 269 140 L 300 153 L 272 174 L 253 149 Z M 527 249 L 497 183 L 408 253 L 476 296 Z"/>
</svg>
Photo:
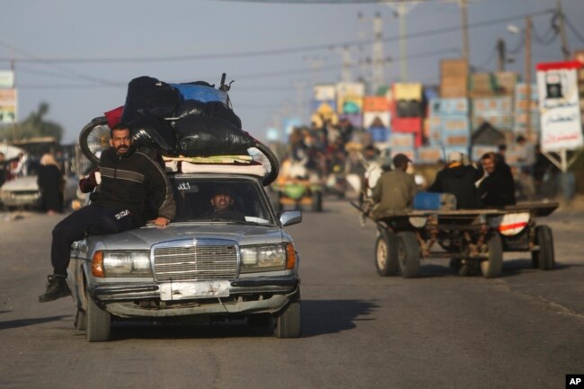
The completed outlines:
<svg viewBox="0 0 584 389">
<path fill-rule="evenodd" d="M 230 122 L 189 115 L 175 122 L 178 151 L 185 156 L 247 155 L 255 139 Z"/>
</svg>

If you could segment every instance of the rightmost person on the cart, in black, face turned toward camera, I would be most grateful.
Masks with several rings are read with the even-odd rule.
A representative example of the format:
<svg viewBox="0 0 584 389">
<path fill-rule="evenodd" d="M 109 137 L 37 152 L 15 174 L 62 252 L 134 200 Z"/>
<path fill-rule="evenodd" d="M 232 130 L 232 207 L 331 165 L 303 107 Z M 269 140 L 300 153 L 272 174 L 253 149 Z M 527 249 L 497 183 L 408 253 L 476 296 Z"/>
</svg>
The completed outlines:
<svg viewBox="0 0 584 389">
<path fill-rule="evenodd" d="M 482 205 L 485 207 L 515 205 L 515 180 L 509 165 L 497 158 L 495 153 L 482 155 L 481 164 L 485 173 L 478 185 Z"/>
</svg>

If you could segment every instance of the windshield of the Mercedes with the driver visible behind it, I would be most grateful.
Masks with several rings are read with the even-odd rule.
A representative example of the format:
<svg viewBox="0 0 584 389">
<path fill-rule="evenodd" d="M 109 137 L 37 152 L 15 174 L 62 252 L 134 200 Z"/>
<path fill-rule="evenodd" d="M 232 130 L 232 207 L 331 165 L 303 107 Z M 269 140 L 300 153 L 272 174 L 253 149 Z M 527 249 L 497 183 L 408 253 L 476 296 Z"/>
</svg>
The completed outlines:
<svg viewBox="0 0 584 389">
<path fill-rule="evenodd" d="M 274 225 L 263 189 L 250 179 L 173 177 L 175 222 Z"/>
</svg>

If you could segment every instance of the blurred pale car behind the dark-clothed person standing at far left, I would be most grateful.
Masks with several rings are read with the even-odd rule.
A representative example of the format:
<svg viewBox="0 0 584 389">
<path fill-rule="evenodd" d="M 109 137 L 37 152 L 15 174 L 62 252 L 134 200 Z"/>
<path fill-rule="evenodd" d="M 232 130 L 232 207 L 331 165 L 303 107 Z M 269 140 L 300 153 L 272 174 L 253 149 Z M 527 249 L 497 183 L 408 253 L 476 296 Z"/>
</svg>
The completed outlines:
<svg viewBox="0 0 584 389">
<path fill-rule="evenodd" d="M 77 185 L 79 180 L 75 175 L 65 177 L 65 206 L 77 199 Z M 37 176 L 29 175 L 17 177 L 11 181 L 4 182 L 0 188 L 0 202 L 5 208 L 39 208 L 40 191 L 37 184 Z"/>
</svg>

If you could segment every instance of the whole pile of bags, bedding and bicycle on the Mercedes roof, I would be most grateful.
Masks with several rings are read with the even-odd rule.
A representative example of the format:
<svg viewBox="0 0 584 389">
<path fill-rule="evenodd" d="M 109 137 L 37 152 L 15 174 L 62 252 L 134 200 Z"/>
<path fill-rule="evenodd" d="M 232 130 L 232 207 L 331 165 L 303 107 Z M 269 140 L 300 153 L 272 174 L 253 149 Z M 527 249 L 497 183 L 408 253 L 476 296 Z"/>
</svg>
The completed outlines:
<svg viewBox="0 0 584 389">
<path fill-rule="evenodd" d="M 221 166 L 221 172 L 259 175 L 268 185 L 278 176 L 278 159 L 243 131 L 241 119 L 230 108 L 228 90 L 225 74 L 217 89 L 203 81 L 167 84 L 137 77 L 128 83 L 125 104 L 86 125 L 79 144 L 98 164 L 109 146 L 110 128 L 124 123 L 134 145 L 172 172 L 217 172 Z"/>
</svg>

